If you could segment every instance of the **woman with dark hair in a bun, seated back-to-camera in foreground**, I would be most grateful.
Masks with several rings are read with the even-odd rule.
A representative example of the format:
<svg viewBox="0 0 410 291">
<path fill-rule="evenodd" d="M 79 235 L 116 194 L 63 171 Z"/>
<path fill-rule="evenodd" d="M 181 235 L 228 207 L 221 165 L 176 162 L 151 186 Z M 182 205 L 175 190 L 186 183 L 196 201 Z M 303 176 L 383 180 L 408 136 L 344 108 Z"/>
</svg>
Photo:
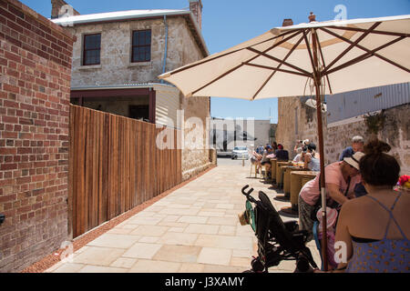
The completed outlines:
<svg viewBox="0 0 410 291">
<path fill-rule="evenodd" d="M 379 140 L 364 146 L 359 168 L 368 194 L 342 206 L 335 241 L 344 243 L 345 260 L 335 272 L 409 272 L 410 195 L 394 190 L 400 166 L 390 149 Z"/>
</svg>

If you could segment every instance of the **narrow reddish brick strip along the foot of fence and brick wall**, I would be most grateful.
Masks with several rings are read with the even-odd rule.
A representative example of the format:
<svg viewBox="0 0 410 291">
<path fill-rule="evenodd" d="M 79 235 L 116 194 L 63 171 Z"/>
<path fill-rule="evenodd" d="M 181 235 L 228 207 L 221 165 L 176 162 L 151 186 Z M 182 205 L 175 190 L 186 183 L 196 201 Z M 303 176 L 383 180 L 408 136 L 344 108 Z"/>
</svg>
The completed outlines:
<svg viewBox="0 0 410 291">
<path fill-rule="evenodd" d="M 132 208 L 128 212 L 109 220 L 108 222 L 104 223 L 101 226 L 97 226 L 96 228 L 90 230 L 89 232 L 87 232 L 84 235 L 75 238 L 74 241 L 72 242 L 74 252 L 79 250 L 81 247 L 86 246 L 89 242 L 93 241 L 98 236 L 101 236 L 101 235 L 105 234 L 106 232 L 108 232 L 108 230 L 114 228 L 114 226 L 118 226 L 120 223 L 124 222 L 129 217 L 135 216 L 136 214 L 138 214 L 138 212 L 140 212 L 140 211 L 144 210 L 145 208 L 153 205 L 154 203 L 159 201 L 161 198 L 163 198 L 165 196 L 168 196 L 173 191 L 179 189 L 182 186 L 185 186 L 185 185 L 189 184 L 191 181 L 193 181 L 193 180 L 199 178 L 200 176 L 208 173 L 214 167 L 215 166 L 210 166 L 210 168 L 208 168 L 207 170 L 200 173 L 200 175 L 191 177 L 187 181 L 184 181 L 181 184 L 179 184 L 178 186 L 174 186 L 174 187 L 170 188 L 169 190 L 161 193 L 159 196 L 156 196 L 156 197 L 150 199 L 149 201 L 146 201 L 146 202 L 142 203 L 141 205 Z M 35 264 L 33 264 L 32 266 L 26 267 L 23 271 L 21 271 L 21 273 L 43 273 L 44 271 L 46 271 L 46 269 L 50 268 L 51 266 L 56 265 L 60 261 L 60 256 L 64 251 L 65 251 L 64 249 L 56 250 L 56 252 L 54 252 L 51 255 L 46 256 L 42 260 L 40 260 L 40 261 L 36 262 Z"/>
</svg>

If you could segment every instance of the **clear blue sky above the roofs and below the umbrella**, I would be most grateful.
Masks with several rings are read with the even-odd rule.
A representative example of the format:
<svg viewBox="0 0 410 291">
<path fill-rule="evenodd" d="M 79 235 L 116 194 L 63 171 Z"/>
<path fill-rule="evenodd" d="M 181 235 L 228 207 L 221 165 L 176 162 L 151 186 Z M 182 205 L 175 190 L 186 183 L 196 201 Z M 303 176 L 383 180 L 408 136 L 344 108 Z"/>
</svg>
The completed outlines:
<svg viewBox="0 0 410 291">
<path fill-rule="evenodd" d="M 50 0 L 20 0 L 37 13 L 50 17 Z M 182 9 L 188 0 L 66 0 L 80 14 L 133 9 Z M 332 20 L 346 7 L 347 18 L 380 17 L 410 14 L 410 0 L 202 0 L 202 34 L 210 54 L 238 45 L 281 26 L 284 18 L 293 24 L 308 22 L 311 11 L 317 21 Z M 234 98 L 211 98 L 211 115 L 221 117 L 254 117 L 278 120 L 277 98 L 247 101 Z"/>
</svg>

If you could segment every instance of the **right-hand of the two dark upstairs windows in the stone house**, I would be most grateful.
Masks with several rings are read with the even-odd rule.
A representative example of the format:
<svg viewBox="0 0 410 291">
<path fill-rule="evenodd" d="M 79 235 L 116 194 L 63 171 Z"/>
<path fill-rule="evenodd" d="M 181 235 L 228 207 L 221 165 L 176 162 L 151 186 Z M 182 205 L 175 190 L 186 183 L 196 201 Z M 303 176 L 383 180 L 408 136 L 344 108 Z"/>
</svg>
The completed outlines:
<svg viewBox="0 0 410 291">
<path fill-rule="evenodd" d="M 151 31 L 138 30 L 132 32 L 131 62 L 149 62 L 151 60 Z"/>
</svg>

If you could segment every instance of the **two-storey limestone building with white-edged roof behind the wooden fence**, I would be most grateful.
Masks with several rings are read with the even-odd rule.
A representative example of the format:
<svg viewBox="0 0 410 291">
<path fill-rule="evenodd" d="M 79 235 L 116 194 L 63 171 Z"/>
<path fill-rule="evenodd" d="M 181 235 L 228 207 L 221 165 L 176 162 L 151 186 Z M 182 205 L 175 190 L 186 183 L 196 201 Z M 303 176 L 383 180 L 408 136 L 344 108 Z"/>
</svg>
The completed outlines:
<svg viewBox="0 0 410 291">
<path fill-rule="evenodd" d="M 189 10 L 92 15 L 80 15 L 74 8 L 69 15 L 66 2 L 51 2 L 52 21 L 77 36 L 71 103 L 178 128 L 188 136 L 184 142 L 190 147 L 183 150 L 182 176 L 188 178 L 207 167 L 207 130 L 197 124 L 200 120 L 208 128 L 210 97 L 187 99 L 175 86 L 158 78 L 209 55 L 201 34 L 201 1 L 189 0 Z M 203 138 L 191 140 L 195 131 Z"/>
</svg>

